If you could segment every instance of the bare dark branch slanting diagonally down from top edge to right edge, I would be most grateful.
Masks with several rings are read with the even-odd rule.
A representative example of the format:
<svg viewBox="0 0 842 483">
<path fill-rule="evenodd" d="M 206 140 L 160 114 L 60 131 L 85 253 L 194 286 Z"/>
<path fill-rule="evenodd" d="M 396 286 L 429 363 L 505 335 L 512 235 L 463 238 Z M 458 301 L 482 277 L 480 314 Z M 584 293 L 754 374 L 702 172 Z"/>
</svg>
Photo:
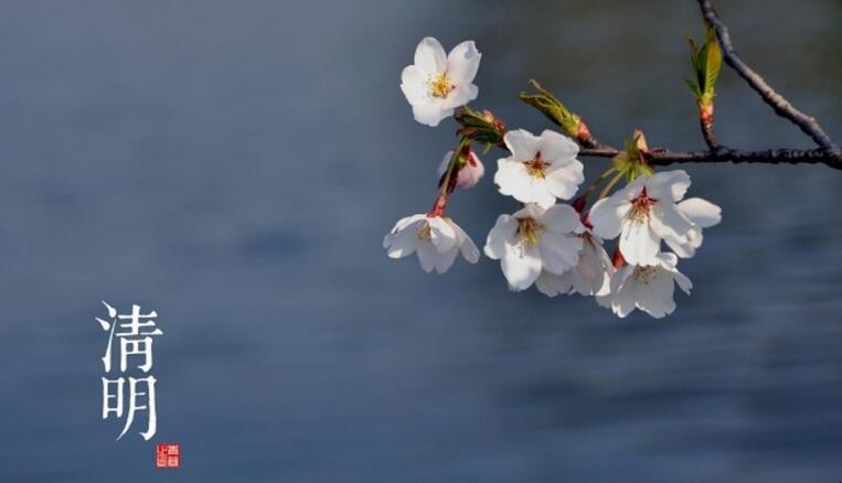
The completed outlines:
<svg viewBox="0 0 842 483">
<path fill-rule="evenodd" d="M 716 39 L 718 39 L 720 45 L 722 46 L 725 63 L 728 64 L 731 68 L 736 71 L 737 74 L 739 74 L 739 76 L 743 77 L 748 83 L 748 85 L 755 92 L 757 92 L 757 94 L 760 95 L 766 104 L 771 106 L 778 116 L 792 121 L 807 136 L 812 138 L 817 144 L 827 148 L 830 151 L 838 150 L 839 146 L 836 146 L 836 143 L 830 139 L 830 136 L 828 136 L 824 130 L 822 130 L 821 126 L 819 126 L 819 122 L 813 117 L 798 110 L 795 106 L 792 106 L 792 104 L 789 103 L 789 100 L 787 100 L 780 94 L 776 93 L 775 89 L 766 84 L 766 80 L 764 80 L 759 74 L 754 72 L 752 67 L 746 65 L 746 63 L 739 58 L 731 42 L 728 28 L 725 26 L 725 24 L 722 23 L 720 18 L 716 15 L 716 12 L 713 10 L 713 6 L 711 4 L 711 0 L 699 0 L 699 6 L 702 9 L 702 14 L 704 15 L 705 20 L 710 22 L 711 25 L 713 25 L 713 28 L 716 30 Z"/>
</svg>

